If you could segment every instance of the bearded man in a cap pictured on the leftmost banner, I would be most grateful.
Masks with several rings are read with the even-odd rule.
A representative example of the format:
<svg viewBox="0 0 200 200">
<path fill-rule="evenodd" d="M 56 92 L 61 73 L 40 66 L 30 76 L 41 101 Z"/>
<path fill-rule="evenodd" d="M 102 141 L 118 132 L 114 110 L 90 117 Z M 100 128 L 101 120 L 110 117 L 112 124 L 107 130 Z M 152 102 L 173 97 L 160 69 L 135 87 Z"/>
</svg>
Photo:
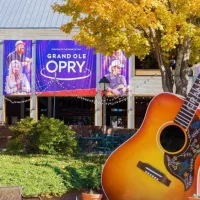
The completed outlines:
<svg viewBox="0 0 200 200">
<path fill-rule="evenodd" d="M 28 58 L 24 54 L 25 43 L 22 40 L 18 40 L 15 43 L 15 50 L 8 54 L 7 56 L 7 66 L 10 65 L 10 62 L 13 60 L 18 60 L 22 67 L 25 68 L 25 73 L 27 75 L 28 80 L 30 80 L 31 73 L 31 64 L 32 58 Z"/>
</svg>

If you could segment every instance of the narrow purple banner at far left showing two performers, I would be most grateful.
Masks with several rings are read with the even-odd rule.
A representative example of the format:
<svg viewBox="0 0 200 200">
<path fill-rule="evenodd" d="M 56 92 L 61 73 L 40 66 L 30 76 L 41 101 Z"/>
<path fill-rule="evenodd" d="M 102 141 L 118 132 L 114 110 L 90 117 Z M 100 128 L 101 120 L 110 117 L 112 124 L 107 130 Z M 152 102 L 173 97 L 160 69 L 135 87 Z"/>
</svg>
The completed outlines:
<svg viewBox="0 0 200 200">
<path fill-rule="evenodd" d="M 4 95 L 31 93 L 32 41 L 4 40 Z"/>
</svg>

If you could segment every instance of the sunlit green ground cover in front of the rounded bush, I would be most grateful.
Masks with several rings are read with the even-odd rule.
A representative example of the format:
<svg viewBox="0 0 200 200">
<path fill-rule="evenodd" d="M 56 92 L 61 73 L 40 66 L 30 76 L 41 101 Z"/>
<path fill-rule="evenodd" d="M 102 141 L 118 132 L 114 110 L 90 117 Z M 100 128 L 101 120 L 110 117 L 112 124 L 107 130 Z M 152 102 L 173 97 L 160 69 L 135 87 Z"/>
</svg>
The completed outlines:
<svg viewBox="0 0 200 200">
<path fill-rule="evenodd" d="M 0 155 L 0 185 L 18 185 L 26 196 L 61 196 L 101 187 L 106 155 Z"/>
</svg>

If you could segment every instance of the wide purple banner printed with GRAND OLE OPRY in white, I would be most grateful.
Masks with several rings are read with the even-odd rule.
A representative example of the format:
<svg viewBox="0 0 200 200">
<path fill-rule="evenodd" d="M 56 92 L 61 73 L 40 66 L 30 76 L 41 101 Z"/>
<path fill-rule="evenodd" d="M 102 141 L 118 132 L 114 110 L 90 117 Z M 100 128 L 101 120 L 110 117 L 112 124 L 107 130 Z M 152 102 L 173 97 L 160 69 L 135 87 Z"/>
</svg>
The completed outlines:
<svg viewBox="0 0 200 200">
<path fill-rule="evenodd" d="M 72 40 L 36 41 L 36 92 L 93 95 L 96 55 Z M 76 91 L 76 92 L 75 92 Z"/>
</svg>

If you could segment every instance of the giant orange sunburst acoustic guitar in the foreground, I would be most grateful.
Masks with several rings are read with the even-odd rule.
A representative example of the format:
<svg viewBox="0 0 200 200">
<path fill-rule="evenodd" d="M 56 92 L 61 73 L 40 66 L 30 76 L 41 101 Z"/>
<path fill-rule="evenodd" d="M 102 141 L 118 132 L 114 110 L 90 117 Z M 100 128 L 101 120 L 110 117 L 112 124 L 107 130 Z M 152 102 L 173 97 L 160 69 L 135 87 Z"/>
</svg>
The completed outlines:
<svg viewBox="0 0 200 200">
<path fill-rule="evenodd" d="M 104 165 L 109 200 L 187 200 L 196 193 L 199 103 L 200 75 L 185 99 L 172 93 L 152 99 L 140 129 Z"/>
</svg>

